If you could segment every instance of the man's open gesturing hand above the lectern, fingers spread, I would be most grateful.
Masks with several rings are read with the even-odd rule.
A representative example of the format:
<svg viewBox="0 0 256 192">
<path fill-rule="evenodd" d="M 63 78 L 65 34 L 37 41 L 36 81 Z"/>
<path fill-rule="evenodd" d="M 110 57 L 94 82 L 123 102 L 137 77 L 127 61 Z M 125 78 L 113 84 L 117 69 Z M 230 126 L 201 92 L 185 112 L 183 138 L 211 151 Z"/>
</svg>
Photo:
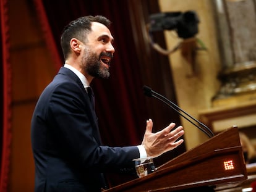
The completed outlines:
<svg viewBox="0 0 256 192">
<path fill-rule="evenodd" d="M 147 156 L 160 156 L 164 152 L 170 151 L 183 143 L 184 140 L 177 140 L 184 135 L 183 127 L 179 126 L 171 131 L 174 127 L 175 123 L 170 123 L 163 130 L 152 133 L 153 122 L 151 119 L 147 120 L 146 131 L 142 141 L 142 145 L 147 151 Z"/>
</svg>

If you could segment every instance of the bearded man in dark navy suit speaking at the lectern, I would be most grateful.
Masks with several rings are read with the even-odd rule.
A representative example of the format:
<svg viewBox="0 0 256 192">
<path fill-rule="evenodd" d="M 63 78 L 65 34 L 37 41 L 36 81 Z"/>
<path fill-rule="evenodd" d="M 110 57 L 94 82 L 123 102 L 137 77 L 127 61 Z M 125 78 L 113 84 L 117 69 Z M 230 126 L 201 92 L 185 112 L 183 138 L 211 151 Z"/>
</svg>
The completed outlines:
<svg viewBox="0 0 256 192">
<path fill-rule="evenodd" d="M 64 28 L 61 46 L 65 65 L 45 88 L 32 117 L 35 191 L 101 191 L 103 172 L 134 168 L 132 159 L 157 157 L 183 140 L 181 126 L 171 123 L 152 133 L 147 121 L 139 146 L 103 146 L 92 100 L 90 82 L 109 77 L 114 54 L 110 22 L 103 16 L 74 20 Z"/>
</svg>

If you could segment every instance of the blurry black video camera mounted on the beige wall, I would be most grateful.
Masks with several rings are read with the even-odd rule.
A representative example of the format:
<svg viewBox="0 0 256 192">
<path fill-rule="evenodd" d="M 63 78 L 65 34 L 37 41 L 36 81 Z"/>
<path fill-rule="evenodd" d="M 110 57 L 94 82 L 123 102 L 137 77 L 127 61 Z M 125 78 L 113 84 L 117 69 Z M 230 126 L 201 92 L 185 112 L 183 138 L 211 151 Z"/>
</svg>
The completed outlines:
<svg viewBox="0 0 256 192">
<path fill-rule="evenodd" d="M 191 38 L 198 33 L 199 19 L 197 14 L 189 10 L 187 12 L 165 12 L 150 15 L 149 32 L 176 30 L 180 38 Z"/>
</svg>

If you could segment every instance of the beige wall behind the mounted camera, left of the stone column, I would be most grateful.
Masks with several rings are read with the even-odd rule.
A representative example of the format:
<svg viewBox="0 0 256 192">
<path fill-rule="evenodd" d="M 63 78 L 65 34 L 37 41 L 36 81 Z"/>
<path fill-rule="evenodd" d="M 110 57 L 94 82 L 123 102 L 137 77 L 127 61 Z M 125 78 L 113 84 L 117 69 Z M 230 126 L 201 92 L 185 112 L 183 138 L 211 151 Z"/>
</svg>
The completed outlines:
<svg viewBox="0 0 256 192">
<path fill-rule="evenodd" d="M 220 82 L 216 79 L 221 69 L 218 45 L 216 39 L 215 21 L 213 19 L 212 0 L 159 0 L 162 12 L 195 10 L 200 19 L 199 32 L 196 35 L 207 47 L 196 50 L 200 45 L 196 42 L 184 43 L 184 47 L 169 55 L 173 72 L 175 92 L 179 106 L 195 118 L 198 111 L 211 107 L 211 98 L 217 93 Z M 168 49 L 176 46 L 179 41 L 174 31 L 164 31 Z M 192 51 L 195 57 L 192 59 Z M 187 54 L 182 54 L 187 51 Z M 186 135 L 187 149 L 194 148 L 208 137 L 194 125 L 181 117 Z"/>
</svg>

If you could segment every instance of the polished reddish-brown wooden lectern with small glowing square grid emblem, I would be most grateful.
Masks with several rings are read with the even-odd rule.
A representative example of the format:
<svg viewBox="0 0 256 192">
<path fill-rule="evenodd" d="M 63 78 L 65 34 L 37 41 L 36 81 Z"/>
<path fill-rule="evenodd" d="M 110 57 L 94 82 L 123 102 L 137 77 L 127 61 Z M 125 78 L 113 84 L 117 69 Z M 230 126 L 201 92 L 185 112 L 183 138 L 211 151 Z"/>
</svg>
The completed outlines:
<svg viewBox="0 0 256 192">
<path fill-rule="evenodd" d="M 106 192 L 178 191 L 230 185 L 246 179 L 238 128 L 233 126 L 161 165 L 150 175 L 114 186 Z"/>
</svg>

